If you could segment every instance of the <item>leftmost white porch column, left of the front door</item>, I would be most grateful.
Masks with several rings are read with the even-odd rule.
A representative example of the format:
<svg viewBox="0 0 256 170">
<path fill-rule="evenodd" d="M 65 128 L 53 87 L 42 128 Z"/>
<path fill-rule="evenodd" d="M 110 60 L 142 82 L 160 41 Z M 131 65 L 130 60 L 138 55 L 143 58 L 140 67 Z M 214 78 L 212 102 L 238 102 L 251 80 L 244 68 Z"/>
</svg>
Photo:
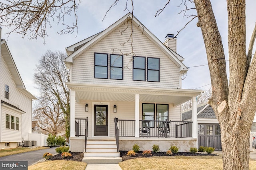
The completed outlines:
<svg viewBox="0 0 256 170">
<path fill-rule="evenodd" d="M 74 137 L 76 135 L 76 129 L 75 129 L 75 97 L 76 97 L 76 92 L 74 90 L 70 90 L 70 137 Z"/>
</svg>

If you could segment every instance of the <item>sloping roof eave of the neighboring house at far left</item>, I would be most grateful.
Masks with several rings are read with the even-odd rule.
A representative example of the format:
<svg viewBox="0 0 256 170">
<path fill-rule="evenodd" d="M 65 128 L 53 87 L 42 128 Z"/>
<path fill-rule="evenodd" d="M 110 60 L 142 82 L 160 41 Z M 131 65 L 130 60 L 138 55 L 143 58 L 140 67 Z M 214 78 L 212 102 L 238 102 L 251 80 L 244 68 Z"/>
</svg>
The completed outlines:
<svg viewBox="0 0 256 170">
<path fill-rule="evenodd" d="M 22 90 L 22 92 L 24 92 L 24 94 L 26 94 L 26 96 L 28 96 L 29 98 L 36 99 L 35 96 L 33 96 L 30 92 L 26 90 L 26 87 L 21 79 L 20 73 L 16 67 L 16 64 L 14 63 L 10 50 L 4 39 L 1 39 L 1 55 L 4 58 L 4 61 L 7 64 L 10 73 L 12 74 L 12 78 L 16 84 L 16 88 Z"/>
</svg>

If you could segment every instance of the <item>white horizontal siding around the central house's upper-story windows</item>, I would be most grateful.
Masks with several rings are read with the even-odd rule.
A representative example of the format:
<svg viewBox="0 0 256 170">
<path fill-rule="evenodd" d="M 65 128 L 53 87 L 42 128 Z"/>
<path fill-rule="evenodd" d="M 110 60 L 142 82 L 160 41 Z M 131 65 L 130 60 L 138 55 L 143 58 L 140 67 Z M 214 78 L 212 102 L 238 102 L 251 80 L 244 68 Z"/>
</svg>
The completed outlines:
<svg viewBox="0 0 256 170">
<path fill-rule="evenodd" d="M 71 82 L 89 83 L 89 84 L 109 84 L 109 85 L 125 85 L 125 86 L 147 86 L 147 87 L 179 87 L 180 72 L 178 66 L 174 64 L 152 41 L 150 41 L 137 27 L 133 27 L 133 50 L 136 56 L 160 58 L 160 82 L 133 81 L 132 80 L 132 55 L 124 55 L 124 80 L 112 80 L 94 78 L 94 53 L 108 54 L 126 54 L 131 53 L 130 27 L 121 35 L 120 30 L 124 30 L 126 25 L 120 26 L 118 29 L 107 35 L 96 45 L 92 46 L 82 55 L 74 59 L 72 65 Z M 115 49 L 115 50 L 113 50 Z M 122 50 L 122 53 L 120 53 Z M 130 64 L 129 64 L 130 63 Z M 108 64 L 109 65 L 109 64 Z M 108 77 L 110 77 L 108 71 Z M 147 75 L 146 75 L 147 77 Z"/>
</svg>

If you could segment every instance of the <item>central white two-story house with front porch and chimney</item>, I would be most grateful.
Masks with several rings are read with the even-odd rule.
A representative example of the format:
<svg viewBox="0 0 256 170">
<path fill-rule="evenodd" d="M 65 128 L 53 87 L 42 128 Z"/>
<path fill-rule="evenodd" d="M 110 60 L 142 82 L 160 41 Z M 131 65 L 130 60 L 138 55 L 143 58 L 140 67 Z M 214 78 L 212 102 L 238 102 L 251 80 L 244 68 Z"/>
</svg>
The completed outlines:
<svg viewBox="0 0 256 170">
<path fill-rule="evenodd" d="M 154 144 L 162 151 L 171 145 L 181 152 L 196 147 L 196 96 L 204 91 L 181 88 L 188 68 L 172 34 L 162 43 L 128 13 L 66 52 L 70 148 L 85 151 L 84 162 L 90 156 L 119 156 L 118 150 L 131 150 L 135 143 L 140 150 Z M 193 118 L 184 122 L 180 104 L 191 99 Z M 95 149 L 103 144 L 111 149 Z"/>
</svg>

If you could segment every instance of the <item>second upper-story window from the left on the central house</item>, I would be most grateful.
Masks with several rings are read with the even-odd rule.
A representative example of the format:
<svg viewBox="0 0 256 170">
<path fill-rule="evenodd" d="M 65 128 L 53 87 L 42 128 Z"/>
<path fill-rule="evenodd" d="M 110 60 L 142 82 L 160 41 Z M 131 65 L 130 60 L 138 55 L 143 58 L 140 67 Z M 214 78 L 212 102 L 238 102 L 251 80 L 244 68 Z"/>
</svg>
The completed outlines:
<svg viewBox="0 0 256 170">
<path fill-rule="evenodd" d="M 110 79 L 123 80 L 123 56 L 110 54 Z"/>
</svg>

